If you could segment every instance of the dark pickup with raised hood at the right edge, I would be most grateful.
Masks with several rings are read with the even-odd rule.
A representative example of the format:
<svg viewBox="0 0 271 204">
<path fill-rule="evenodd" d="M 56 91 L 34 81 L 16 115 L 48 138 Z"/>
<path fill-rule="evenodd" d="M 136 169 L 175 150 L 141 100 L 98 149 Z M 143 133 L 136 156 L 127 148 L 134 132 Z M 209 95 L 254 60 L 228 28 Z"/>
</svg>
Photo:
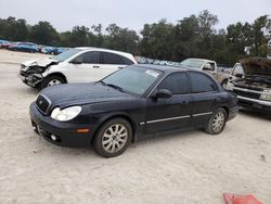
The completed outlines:
<svg viewBox="0 0 271 204">
<path fill-rule="evenodd" d="M 250 58 L 241 64 L 242 78 L 229 81 L 227 89 L 237 94 L 240 106 L 271 113 L 271 60 Z"/>
</svg>

